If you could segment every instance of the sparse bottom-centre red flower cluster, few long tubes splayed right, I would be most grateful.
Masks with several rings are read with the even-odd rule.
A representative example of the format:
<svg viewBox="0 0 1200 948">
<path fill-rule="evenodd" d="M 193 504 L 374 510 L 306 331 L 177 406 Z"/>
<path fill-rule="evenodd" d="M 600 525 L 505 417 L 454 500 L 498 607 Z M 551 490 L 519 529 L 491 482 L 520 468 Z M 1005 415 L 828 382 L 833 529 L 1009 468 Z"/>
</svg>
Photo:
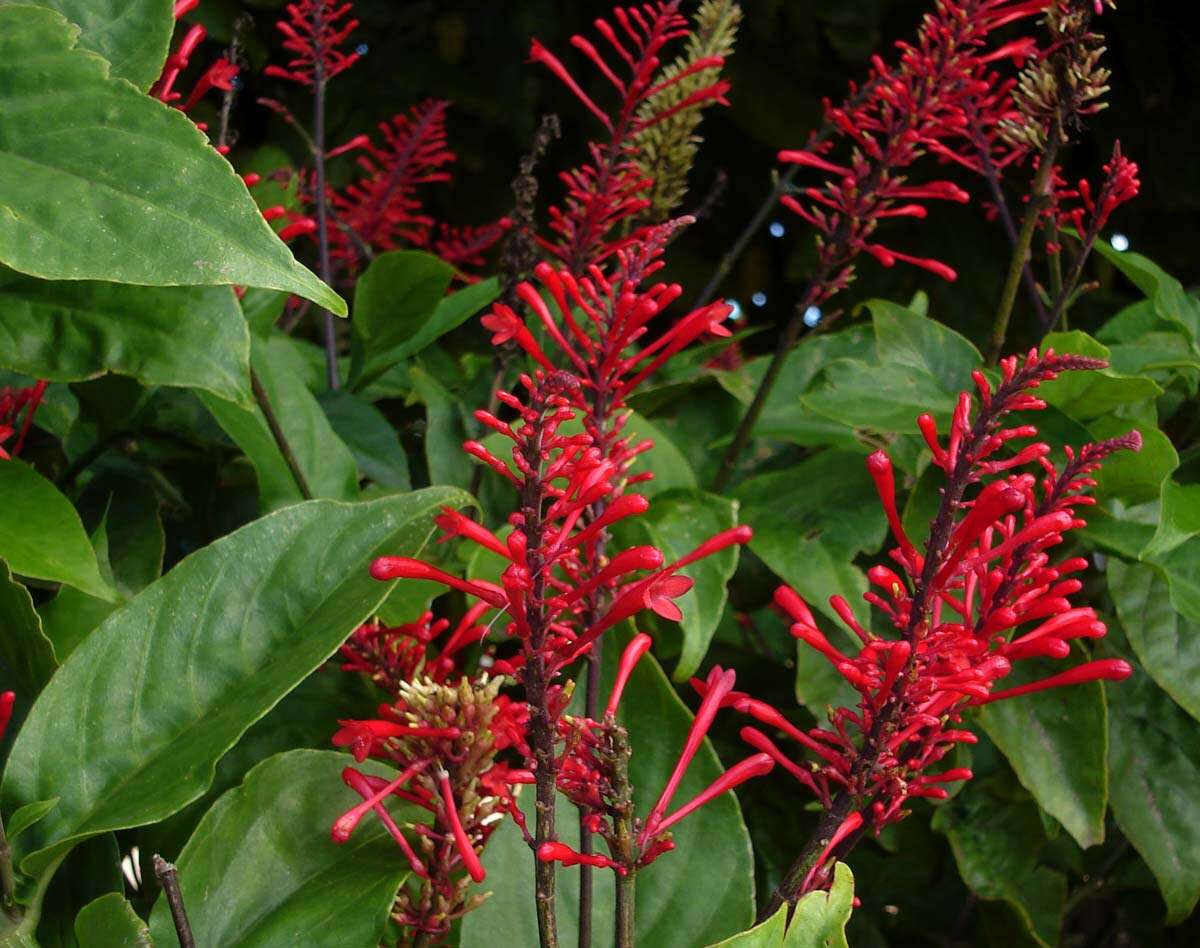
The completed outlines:
<svg viewBox="0 0 1200 948">
<path fill-rule="evenodd" d="M 775 766 L 769 755 L 754 754 L 736 763 L 691 800 L 667 812 L 721 702 L 733 689 L 733 671 L 714 667 L 708 674 L 704 700 L 658 802 L 644 818 L 635 817 L 629 782 L 631 749 L 625 728 L 617 724 L 617 712 L 634 667 L 650 644 L 648 635 L 638 634 L 625 647 L 601 720 L 564 715 L 558 722 L 564 745 L 558 761 L 558 788 L 580 808 L 588 832 L 600 835 L 612 856 L 581 853 L 563 842 L 546 842 L 538 850 L 539 859 L 564 865 L 602 866 L 626 875 L 674 848 L 670 829 L 680 820 Z"/>
</svg>

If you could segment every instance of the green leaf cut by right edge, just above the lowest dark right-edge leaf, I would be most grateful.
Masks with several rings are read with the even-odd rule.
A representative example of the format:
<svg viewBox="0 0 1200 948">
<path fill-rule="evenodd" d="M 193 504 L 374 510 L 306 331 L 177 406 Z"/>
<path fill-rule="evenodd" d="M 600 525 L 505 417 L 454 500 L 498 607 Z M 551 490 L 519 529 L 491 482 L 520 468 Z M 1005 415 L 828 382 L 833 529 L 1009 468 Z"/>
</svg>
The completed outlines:
<svg viewBox="0 0 1200 948">
<path fill-rule="evenodd" d="M 1110 559 L 1108 575 L 1109 593 L 1138 661 L 1200 720 L 1200 622 L 1180 614 L 1154 566 Z"/>
</svg>

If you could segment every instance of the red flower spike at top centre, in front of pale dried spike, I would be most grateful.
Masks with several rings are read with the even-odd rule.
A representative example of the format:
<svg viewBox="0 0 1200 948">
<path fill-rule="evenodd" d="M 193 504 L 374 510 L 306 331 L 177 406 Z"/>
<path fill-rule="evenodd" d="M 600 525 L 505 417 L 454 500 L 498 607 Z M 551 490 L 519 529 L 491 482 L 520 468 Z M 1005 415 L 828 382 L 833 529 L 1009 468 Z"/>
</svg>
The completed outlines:
<svg viewBox="0 0 1200 948">
<path fill-rule="evenodd" d="M 725 60 L 700 55 L 686 65 L 661 70 L 664 48 L 689 36 L 688 20 L 679 16 L 679 0 L 658 0 L 642 6 L 614 7 L 612 19 L 595 20 L 599 48 L 584 36 L 571 37 L 578 49 L 611 84 L 619 97 L 612 114 L 583 91 L 562 60 L 534 40 L 529 59 L 546 66 L 605 127 L 604 142 L 588 143 L 589 161 L 562 174 L 566 198 L 550 209 L 554 238 L 541 240 L 544 248 L 575 276 L 611 257 L 640 236 L 635 230 L 613 235 L 622 222 L 632 221 L 652 205 L 648 197 L 654 179 L 640 163 L 638 140 L 659 124 L 713 102 L 726 103 L 728 82 L 716 73 Z M 692 77 L 686 95 L 673 95 Z"/>
</svg>

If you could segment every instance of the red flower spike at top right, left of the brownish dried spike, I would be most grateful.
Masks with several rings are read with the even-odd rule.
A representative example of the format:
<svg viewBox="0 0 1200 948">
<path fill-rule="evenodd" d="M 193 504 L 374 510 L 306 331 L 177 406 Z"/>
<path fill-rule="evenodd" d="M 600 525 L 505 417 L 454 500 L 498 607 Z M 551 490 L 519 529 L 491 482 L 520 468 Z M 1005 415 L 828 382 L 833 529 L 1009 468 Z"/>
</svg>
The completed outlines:
<svg viewBox="0 0 1200 948">
<path fill-rule="evenodd" d="M 804 150 L 780 152 L 782 162 L 829 175 L 818 187 L 797 188 L 781 197 L 784 205 L 818 234 L 817 277 L 800 308 L 818 305 L 842 289 L 853 277 L 854 259 L 864 252 L 884 266 L 902 260 L 946 280 L 955 278 L 944 263 L 900 253 L 874 240 L 874 234 L 889 217 L 925 217 L 924 202 L 968 199 L 949 181 L 911 184 L 906 169 L 926 152 L 974 163 L 974 158 L 962 158 L 959 148 L 972 133 L 972 122 L 982 121 L 984 113 L 1008 112 L 991 64 L 1032 52 L 1027 40 L 991 50 L 985 44 L 996 30 L 1040 13 L 1046 2 L 938 0 L 935 11 L 925 16 L 917 42 L 898 43 L 898 65 L 875 56 L 862 88 L 852 86 L 840 106 L 826 104 L 830 138 L 814 137 Z M 838 142 L 850 146 L 844 161 L 832 157 Z"/>
</svg>

